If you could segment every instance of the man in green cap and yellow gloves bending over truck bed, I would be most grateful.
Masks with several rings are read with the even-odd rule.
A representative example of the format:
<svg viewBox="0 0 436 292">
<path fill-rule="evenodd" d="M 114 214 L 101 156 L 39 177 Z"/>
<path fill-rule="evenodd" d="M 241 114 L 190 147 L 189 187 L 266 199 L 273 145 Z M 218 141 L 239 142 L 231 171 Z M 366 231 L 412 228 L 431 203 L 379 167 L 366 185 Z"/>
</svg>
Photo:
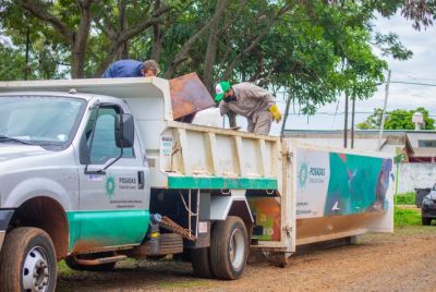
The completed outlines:
<svg viewBox="0 0 436 292">
<path fill-rule="evenodd" d="M 215 92 L 215 101 L 219 102 L 221 115 L 229 117 L 230 127 L 237 126 L 237 114 L 241 114 L 249 122 L 249 132 L 268 135 L 272 120 L 281 120 L 272 95 L 252 83 L 244 82 L 231 86 L 222 81 L 217 84 Z"/>
</svg>

